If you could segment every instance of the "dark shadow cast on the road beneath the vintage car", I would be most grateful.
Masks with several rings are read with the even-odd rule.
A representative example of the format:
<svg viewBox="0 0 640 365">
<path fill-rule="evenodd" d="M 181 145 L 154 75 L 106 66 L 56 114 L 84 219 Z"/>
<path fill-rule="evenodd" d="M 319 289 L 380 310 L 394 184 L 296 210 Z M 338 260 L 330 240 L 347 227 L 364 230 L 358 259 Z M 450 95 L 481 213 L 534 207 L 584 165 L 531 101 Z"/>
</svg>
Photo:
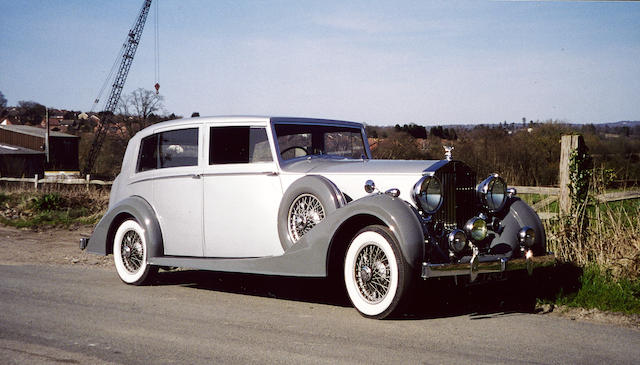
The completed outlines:
<svg viewBox="0 0 640 365">
<path fill-rule="evenodd" d="M 411 288 L 404 311 L 390 319 L 420 320 L 468 315 L 471 320 L 534 313 L 540 299 L 577 290 L 580 272 L 572 267 L 541 269 L 533 276 L 511 275 L 480 284 L 451 278 L 419 281 Z M 155 285 L 351 307 L 343 284 L 327 278 L 299 278 L 199 270 L 161 271 Z"/>
</svg>

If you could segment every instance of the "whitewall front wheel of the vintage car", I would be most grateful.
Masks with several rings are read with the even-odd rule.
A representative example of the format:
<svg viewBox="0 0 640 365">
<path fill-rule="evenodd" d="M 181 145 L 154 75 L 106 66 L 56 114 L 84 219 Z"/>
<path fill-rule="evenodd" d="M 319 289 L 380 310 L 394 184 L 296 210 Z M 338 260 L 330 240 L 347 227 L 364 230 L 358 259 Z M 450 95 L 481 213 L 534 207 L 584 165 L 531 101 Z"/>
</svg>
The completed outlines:
<svg viewBox="0 0 640 365">
<path fill-rule="evenodd" d="M 372 225 L 356 234 L 345 255 L 344 282 L 360 314 L 389 316 L 399 309 L 410 281 L 410 267 L 387 227 Z"/>
</svg>

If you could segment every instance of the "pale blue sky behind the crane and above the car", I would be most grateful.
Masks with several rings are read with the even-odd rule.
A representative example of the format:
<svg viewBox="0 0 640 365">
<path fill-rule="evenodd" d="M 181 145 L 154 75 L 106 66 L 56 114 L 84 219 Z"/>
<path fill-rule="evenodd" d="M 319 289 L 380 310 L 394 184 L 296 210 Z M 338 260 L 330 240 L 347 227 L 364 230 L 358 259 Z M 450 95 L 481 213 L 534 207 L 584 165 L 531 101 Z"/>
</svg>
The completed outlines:
<svg viewBox="0 0 640 365">
<path fill-rule="evenodd" d="M 159 0 L 167 112 L 640 120 L 640 2 Z M 89 110 L 142 1 L 0 0 L 0 91 Z M 125 93 L 152 89 L 152 6 Z"/>
</svg>

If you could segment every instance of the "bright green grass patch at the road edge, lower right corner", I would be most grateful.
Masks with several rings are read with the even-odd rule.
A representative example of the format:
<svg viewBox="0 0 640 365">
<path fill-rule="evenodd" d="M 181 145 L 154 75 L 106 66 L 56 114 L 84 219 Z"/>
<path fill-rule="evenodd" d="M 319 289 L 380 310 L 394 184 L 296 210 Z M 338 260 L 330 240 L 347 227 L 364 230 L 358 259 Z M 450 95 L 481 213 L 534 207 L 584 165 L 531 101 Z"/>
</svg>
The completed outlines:
<svg viewBox="0 0 640 365">
<path fill-rule="evenodd" d="M 603 311 L 640 314 L 640 279 L 614 280 L 595 265 L 584 268 L 576 292 L 560 294 L 557 304 L 597 308 Z M 562 289 L 562 288 L 561 288 Z"/>
</svg>

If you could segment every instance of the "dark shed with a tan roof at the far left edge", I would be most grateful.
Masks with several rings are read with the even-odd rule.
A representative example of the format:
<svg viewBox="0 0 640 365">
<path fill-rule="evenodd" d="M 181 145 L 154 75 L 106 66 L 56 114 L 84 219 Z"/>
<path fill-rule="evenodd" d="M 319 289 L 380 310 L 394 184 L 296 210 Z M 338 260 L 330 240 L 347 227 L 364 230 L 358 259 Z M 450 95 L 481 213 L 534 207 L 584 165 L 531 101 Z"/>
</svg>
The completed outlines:
<svg viewBox="0 0 640 365">
<path fill-rule="evenodd" d="M 0 144 L 21 147 L 45 156 L 42 170 L 78 171 L 79 137 L 62 132 L 49 132 L 49 163 L 46 163 L 46 130 L 26 125 L 0 125 Z M 3 148 L 6 150 L 6 148 Z M 1 151 L 0 151 L 1 152 Z M 23 151 L 24 152 L 24 151 Z M 25 155 L 25 154 L 23 154 Z M 12 157 L 13 156 L 13 157 Z M 6 158 L 18 159 L 16 154 L 7 154 Z M 3 176 L 6 176 L 3 174 Z"/>
</svg>

